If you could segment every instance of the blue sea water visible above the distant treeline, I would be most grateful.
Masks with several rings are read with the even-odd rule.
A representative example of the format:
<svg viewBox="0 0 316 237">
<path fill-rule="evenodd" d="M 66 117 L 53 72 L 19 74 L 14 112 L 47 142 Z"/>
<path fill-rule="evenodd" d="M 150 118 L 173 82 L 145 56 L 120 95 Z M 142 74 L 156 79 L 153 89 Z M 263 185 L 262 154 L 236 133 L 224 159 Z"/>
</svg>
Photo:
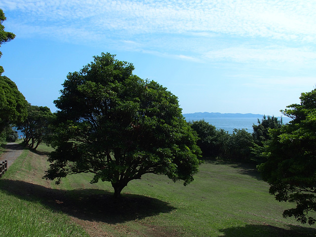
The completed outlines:
<svg viewBox="0 0 316 237">
<path fill-rule="evenodd" d="M 204 121 L 212 124 L 216 129 L 224 129 L 228 133 L 233 133 L 234 129 L 246 129 L 247 132 L 252 133 L 252 125 L 258 125 L 258 119 L 261 121 L 261 118 L 185 118 L 187 121 L 198 121 L 204 119 Z M 281 117 L 278 117 L 280 120 Z M 291 118 L 282 117 L 283 124 L 291 121 Z"/>
</svg>

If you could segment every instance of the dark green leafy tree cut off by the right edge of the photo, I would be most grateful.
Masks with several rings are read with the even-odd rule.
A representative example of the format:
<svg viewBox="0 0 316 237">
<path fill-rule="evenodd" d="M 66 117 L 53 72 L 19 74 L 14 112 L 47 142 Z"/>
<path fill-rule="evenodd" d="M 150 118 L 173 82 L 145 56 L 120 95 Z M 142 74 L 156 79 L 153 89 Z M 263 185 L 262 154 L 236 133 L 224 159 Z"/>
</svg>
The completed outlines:
<svg viewBox="0 0 316 237">
<path fill-rule="evenodd" d="M 276 200 L 296 204 L 283 216 L 312 225 L 316 221 L 315 215 L 309 215 L 316 212 L 316 90 L 302 93 L 300 100 L 281 111 L 293 120 L 270 130 L 267 161 L 259 170 Z"/>
</svg>

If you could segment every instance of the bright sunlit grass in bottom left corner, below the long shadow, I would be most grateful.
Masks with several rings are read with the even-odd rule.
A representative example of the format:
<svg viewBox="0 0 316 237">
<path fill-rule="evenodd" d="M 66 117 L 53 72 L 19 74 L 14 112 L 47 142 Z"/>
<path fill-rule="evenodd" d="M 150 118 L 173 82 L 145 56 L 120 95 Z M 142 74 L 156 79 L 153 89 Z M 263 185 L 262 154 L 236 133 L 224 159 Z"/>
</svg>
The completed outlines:
<svg viewBox="0 0 316 237">
<path fill-rule="evenodd" d="M 0 193 L 1 237 L 87 237 L 69 216 L 54 212 L 34 200 Z"/>
</svg>

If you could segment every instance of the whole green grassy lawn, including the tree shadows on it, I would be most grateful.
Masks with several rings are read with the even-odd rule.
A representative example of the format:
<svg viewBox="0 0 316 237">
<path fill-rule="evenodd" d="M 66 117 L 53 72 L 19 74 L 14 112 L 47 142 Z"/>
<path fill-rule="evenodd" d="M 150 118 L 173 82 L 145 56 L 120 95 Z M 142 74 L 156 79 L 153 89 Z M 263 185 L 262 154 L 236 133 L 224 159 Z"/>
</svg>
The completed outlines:
<svg viewBox="0 0 316 237">
<path fill-rule="evenodd" d="M 121 200 L 114 200 L 111 184 L 92 185 L 90 174 L 69 176 L 59 186 L 43 180 L 49 149 L 24 151 L 0 179 L 0 230 L 13 233 L 6 236 L 316 235 L 314 226 L 282 218 L 291 204 L 270 196 L 269 186 L 246 164 L 206 161 L 186 187 L 164 176 L 144 175 L 123 189 Z"/>
</svg>

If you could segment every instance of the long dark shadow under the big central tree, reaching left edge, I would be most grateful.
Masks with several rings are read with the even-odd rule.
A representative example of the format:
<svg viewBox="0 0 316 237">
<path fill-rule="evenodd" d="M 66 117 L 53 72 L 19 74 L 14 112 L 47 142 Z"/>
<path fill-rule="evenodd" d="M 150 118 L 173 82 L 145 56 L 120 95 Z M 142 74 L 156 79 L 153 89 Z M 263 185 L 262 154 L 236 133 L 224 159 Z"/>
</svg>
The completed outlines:
<svg viewBox="0 0 316 237">
<path fill-rule="evenodd" d="M 0 189 L 30 201 L 40 201 L 53 211 L 62 211 L 82 220 L 109 224 L 143 219 L 175 208 L 169 203 L 142 195 L 113 193 L 97 189 L 57 190 L 17 180 L 0 180 Z"/>
</svg>

